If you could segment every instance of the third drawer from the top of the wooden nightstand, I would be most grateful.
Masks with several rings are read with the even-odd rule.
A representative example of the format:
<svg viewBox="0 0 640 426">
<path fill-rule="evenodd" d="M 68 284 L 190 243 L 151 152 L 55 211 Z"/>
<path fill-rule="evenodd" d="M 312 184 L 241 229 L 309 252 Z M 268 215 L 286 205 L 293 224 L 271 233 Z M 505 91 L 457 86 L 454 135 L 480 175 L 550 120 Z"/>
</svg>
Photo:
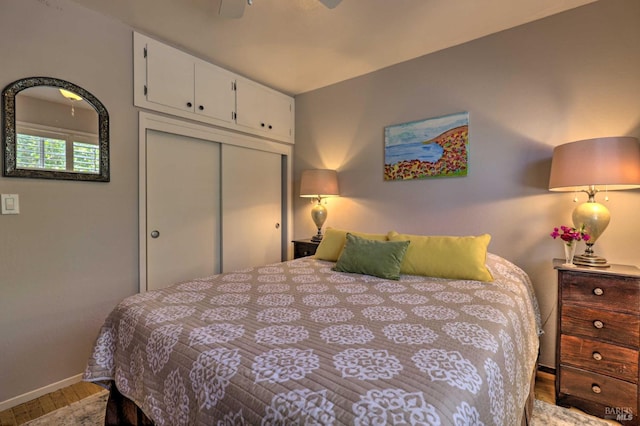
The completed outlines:
<svg viewBox="0 0 640 426">
<path fill-rule="evenodd" d="M 638 383 L 638 351 L 597 340 L 562 335 L 560 363 Z"/>
</svg>

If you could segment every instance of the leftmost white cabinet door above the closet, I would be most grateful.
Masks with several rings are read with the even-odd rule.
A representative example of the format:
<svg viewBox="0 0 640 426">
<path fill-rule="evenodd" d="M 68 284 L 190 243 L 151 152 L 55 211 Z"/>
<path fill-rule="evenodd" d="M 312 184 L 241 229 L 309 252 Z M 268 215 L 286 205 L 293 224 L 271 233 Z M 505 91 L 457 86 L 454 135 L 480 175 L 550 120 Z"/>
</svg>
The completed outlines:
<svg viewBox="0 0 640 426">
<path fill-rule="evenodd" d="M 194 61 L 177 49 L 147 42 L 147 100 L 194 111 Z"/>
</svg>

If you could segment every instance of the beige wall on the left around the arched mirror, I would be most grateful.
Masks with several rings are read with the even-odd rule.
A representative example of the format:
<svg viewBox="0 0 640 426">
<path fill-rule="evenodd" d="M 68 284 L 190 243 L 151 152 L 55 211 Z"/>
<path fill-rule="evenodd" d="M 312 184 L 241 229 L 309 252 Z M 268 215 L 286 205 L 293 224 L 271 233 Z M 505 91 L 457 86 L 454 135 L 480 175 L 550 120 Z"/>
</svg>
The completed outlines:
<svg viewBox="0 0 640 426">
<path fill-rule="evenodd" d="M 131 29 L 68 0 L 2 0 L 0 86 L 57 77 L 111 119 L 111 182 L 0 177 L 0 403 L 83 372 L 108 312 L 138 289 Z"/>
</svg>

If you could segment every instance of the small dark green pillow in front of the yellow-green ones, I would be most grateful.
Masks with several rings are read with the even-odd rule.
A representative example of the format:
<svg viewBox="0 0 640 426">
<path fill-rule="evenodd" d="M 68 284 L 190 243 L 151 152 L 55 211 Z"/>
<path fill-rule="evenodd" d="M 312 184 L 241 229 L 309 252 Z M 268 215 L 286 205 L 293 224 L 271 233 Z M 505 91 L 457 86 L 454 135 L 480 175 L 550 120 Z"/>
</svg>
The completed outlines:
<svg viewBox="0 0 640 426">
<path fill-rule="evenodd" d="M 347 233 L 346 240 L 334 271 L 400 279 L 400 264 L 409 241 L 369 240 L 351 233 Z"/>
</svg>

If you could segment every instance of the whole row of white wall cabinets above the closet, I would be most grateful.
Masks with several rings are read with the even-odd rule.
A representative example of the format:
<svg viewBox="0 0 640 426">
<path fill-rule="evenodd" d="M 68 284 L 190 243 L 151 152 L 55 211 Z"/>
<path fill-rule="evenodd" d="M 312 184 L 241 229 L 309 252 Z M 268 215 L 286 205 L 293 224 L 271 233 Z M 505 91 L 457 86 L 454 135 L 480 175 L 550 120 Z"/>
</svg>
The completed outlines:
<svg viewBox="0 0 640 426">
<path fill-rule="evenodd" d="M 134 104 L 269 139 L 294 142 L 294 100 L 134 32 Z"/>
</svg>

